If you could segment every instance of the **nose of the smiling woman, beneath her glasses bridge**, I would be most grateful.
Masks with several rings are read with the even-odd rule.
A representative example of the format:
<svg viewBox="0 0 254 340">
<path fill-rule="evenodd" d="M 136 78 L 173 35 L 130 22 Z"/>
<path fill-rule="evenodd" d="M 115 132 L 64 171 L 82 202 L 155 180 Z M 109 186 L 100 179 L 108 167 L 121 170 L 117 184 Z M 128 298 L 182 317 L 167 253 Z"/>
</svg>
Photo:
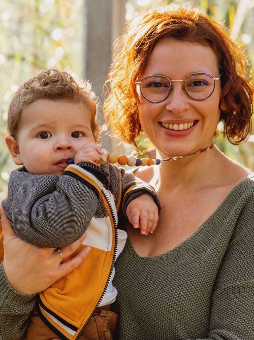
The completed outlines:
<svg viewBox="0 0 254 340">
<path fill-rule="evenodd" d="M 182 83 L 175 83 L 170 90 L 169 96 L 166 98 L 166 109 L 175 114 L 181 114 L 189 107 L 187 94 Z"/>
</svg>

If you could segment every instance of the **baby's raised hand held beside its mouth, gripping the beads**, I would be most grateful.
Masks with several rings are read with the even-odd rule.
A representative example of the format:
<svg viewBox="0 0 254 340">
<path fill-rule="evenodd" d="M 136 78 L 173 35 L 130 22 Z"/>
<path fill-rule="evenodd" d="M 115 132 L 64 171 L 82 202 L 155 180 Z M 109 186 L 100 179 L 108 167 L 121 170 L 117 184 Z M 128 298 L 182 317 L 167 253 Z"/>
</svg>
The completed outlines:
<svg viewBox="0 0 254 340">
<path fill-rule="evenodd" d="M 74 157 L 74 163 L 77 164 L 79 162 L 91 162 L 94 164 L 98 163 L 103 151 L 99 146 L 95 143 L 87 143 L 82 146 L 82 148 L 76 153 Z"/>
</svg>

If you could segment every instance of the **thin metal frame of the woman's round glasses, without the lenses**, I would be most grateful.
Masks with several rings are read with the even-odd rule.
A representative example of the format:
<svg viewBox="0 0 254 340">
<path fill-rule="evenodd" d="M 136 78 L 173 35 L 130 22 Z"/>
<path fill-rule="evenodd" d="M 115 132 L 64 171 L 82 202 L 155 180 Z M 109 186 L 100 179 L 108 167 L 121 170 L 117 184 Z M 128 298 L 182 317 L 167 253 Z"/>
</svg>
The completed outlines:
<svg viewBox="0 0 254 340">
<path fill-rule="evenodd" d="M 206 75 L 209 75 L 209 76 L 211 76 L 212 79 L 213 79 L 213 89 L 212 89 L 212 92 L 211 92 L 211 94 L 209 94 L 207 97 L 205 97 L 205 98 L 203 98 L 203 99 L 196 99 L 196 98 L 193 98 L 192 96 L 190 96 L 190 95 L 187 93 L 187 91 L 186 91 L 186 89 L 185 89 L 185 86 L 184 86 L 184 82 L 185 82 L 185 80 L 186 80 L 189 76 L 192 76 L 192 75 L 199 75 L 199 74 L 206 74 Z M 172 82 L 183 82 L 183 89 L 184 89 L 184 92 L 187 94 L 188 97 L 192 98 L 193 100 L 205 100 L 205 99 L 209 98 L 209 97 L 213 94 L 213 91 L 214 91 L 214 89 L 215 89 L 215 80 L 220 80 L 220 76 L 221 76 L 221 75 L 222 75 L 222 73 L 221 73 L 217 78 L 214 78 L 210 73 L 207 73 L 207 72 L 194 72 L 194 73 L 190 73 L 189 75 L 187 75 L 184 79 L 172 79 L 172 80 L 170 80 L 168 77 L 163 76 L 163 75 L 149 75 L 149 76 L 143 77 L 139 82 L 135 82 L 135 84 L 136 84 L 136 89 L 137 89 L 137 86 L 138 86 L 139 92 L 142 94 L 142 96 L 143 96 L 146 100 L 150 101 L 150 103 L 161 103 L 161 101 L 165 100 L 165 99 L 169 96 L 169 94 L 170 94 L 170 92 L 171 92 L 171 89 L 173 88 Z M 148 77 L 151 77 L 151 76 L 155 76 L 155 77 L 163 77 L 163 78 L 166 78 L 166 79 L 168 80 L 168 82 L 169 82 L 169 92 L 168 92 L 168 94 L 167 94 L 163 99 L 161 99 L 161 100 L 150 100 L 150 99 L 146 98 L 146 96 L 142 93 L 141 86 L 140 86 L 142 80 L 144 80 L 144 79 L 146 79 L 146 78 L 148 78 Z"/>
</svg>

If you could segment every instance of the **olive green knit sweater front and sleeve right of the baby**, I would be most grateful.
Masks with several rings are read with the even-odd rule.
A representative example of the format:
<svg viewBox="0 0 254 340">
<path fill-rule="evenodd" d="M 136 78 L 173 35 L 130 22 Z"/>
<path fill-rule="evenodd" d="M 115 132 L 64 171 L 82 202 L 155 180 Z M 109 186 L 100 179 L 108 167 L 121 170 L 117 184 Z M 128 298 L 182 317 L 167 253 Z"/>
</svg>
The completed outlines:
<svg viewBox="0 0 254 340">
<path fill-rule="evenodd" d="M 176 248 L 116 262 L 120 340 L 254 339 L 254 176 Z"/>
</svg>

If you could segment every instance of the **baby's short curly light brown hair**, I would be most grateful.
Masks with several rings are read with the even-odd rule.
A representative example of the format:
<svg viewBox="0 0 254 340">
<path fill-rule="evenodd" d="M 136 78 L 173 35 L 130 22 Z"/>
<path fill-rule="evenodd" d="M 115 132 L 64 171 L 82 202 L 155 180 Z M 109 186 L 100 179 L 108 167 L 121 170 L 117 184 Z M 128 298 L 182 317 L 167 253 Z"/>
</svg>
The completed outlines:
<svg viewBox="0 0 254 340">
<path fill-rule="evenodd" d="M 83 103 L 91 113 L 91 130 L 99 141 L 100 127 L 97 123 L 97 97 L 91 91 L 91 84 L 80 79 L 74 72 L 46 69 L 24 82 L 14 97 L 8 112 L 7 128 L 15 138 L 19 129 L 22 109 L 39 99 L 66 100 Z M 85 112 L 84 112 L 85 114 Z"/>
</svg>

